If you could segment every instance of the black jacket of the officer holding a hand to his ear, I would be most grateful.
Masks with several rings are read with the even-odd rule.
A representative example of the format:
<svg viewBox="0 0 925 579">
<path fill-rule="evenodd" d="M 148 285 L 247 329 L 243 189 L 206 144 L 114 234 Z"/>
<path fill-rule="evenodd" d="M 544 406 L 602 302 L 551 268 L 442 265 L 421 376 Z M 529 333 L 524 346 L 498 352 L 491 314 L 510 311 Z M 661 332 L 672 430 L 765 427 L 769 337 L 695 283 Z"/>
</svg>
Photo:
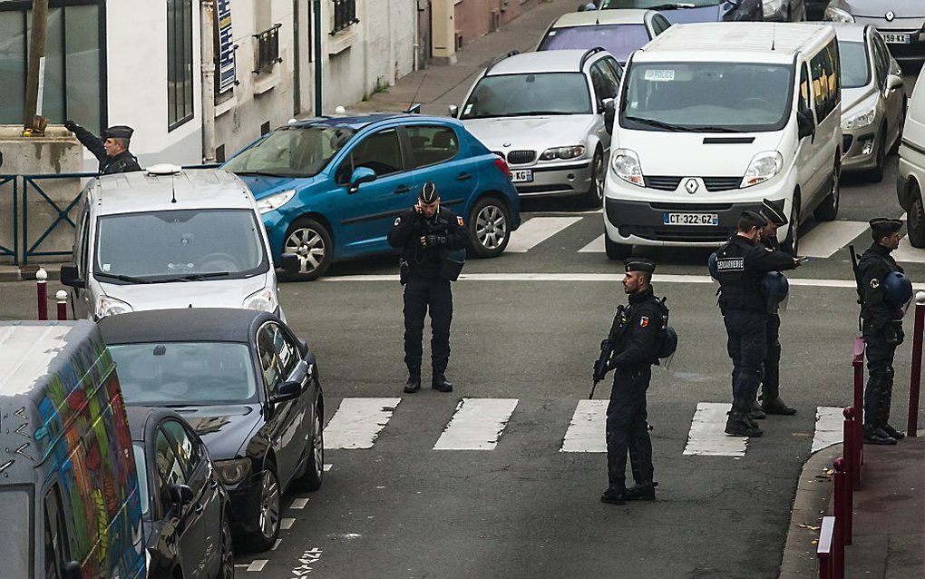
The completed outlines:
<svg viewBox="0 0 925 579">
<path fill-rule="evenodd" d="M 433 245 L 421 245 L 421 238 L 434 236 Z M 413 278 L 439 279 L 440 250 L 464 249 L 469 244 L 462 218 L 441 207 L 432 218 L 408 209 L 388 232 L 388 245 L 401 249 L 401 257 L 411 266 Z"/>
</svg>

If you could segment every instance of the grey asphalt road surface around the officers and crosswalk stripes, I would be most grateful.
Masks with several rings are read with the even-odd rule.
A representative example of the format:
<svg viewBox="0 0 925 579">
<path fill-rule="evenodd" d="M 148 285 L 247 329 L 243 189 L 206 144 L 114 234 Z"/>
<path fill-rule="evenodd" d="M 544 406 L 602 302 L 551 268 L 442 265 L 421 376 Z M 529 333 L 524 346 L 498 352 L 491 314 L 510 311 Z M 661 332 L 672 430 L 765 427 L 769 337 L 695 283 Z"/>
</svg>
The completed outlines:
<svg viewBox="0 0 925 579">
<path fill-rule="evenodd" d="M 846 179 L 836 229 L 902 214 L 894 166 L 891 157 L 882 183 Z M 289 528 L 275 550 L 239 554 L 240 576 L 777 576 L 816 409 L 850 403 L 857 304 L 845 251 L 791 276 L 805 284 L 794 284 L 783 316 L 782 390 L 799 414 L 765 421 L 765 436 L 738 458 L 684 454 L 697 404 L 731 397 L 715 285 L 702 277 L 708 252 L 653 254 L 656 292 L 669 296 L 681 336 L 671 368 L 653 372 L 648 396 L 659 500 L 613 507 L 598 502 L 605 455 L 561 447 L 623 299 L 622 268 L 603 253 L 579 251 L 602 233 L 599 212 L 552 202 L 524 210 L 525 220 L 576 220 L 524 252 L 466 265 L 470 279 L 454 285 L 451 394 L 401 392 L 394 258 L 339 264 L 322 281 L 280 286 L 290 325 L 317 354 L 328 418 L 344 398 L 401 401 L 371 448 L 327 451 L 322 489 L 287 497 L 287 504 L 309 500 L 284 514 Z M 805 226 L 805 240 L 815 227 Z M 855 244 L 862 249 L 869 240 L 862 231 Z M 925 250 L 904 255 L 921 282 Z M 31 283 L 0 284 L 0 318 L 33 311 Z M 909 354 L 908 345 L 897 352 L 894 417 L 905 416 Z M 600 384 L 596 398 L 609 391 Z M 463 398 L 516 400 L 493 449 L 434 449 Z"/>
</svg>

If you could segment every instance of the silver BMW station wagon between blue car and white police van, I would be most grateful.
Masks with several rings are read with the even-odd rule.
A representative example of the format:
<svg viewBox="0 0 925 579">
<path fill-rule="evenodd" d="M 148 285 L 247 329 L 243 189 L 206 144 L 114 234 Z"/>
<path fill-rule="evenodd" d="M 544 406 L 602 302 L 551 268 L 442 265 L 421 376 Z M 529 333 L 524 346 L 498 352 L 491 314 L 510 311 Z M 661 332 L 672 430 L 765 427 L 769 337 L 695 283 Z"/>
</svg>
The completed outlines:
<svg viewBox="0 0 925 579">
<path fill-rule="evenodd" d="M 611 154 L 605 122 L 623 69 L 603 48 L 511 52 L 479 77 L 450 116 L 507 160 L 518 194 L 578 195 L 601 205 Z"/>
</svg>

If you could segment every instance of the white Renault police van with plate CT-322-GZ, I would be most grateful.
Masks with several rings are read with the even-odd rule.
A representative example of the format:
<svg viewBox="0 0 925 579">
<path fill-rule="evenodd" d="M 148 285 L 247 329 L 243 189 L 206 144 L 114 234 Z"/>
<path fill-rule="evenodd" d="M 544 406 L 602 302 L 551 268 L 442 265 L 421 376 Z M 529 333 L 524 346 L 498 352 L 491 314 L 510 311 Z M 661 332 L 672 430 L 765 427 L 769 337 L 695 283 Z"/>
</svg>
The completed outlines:
<svg viewBox="0 0 925 579">
<path fill-rule="evenodd" d="M 838 213 L 841 69 L 828 25 L 673 26 L 623 75 L 605 183 L 605 245 L 722 245 L 744 209 L 783 203 L 780 231 Z"/>
</svg>

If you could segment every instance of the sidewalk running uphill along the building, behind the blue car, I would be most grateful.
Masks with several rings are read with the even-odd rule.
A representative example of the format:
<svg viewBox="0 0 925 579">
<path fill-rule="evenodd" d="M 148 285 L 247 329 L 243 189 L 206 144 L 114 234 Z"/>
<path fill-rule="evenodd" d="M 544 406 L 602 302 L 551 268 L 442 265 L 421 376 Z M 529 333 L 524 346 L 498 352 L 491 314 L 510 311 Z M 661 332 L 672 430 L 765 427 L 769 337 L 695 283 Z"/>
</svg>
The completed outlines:
<svg viewBox="0 0 925 579">
<path fill-rule="evenodd" d="M 402 77 L 385 93 L 374 94 L 368 101 L 347 107 L 350 113 L 378 111 L 399 112 L 413 103 L 421 103 L 426 115 L 448 115 L 447 107 L 462 105 L 462 99 L 475 82 L 476 75 L 496 57 L 510 50 L 531 51 L 554 19 L 573 12 L 577 0 L 549 0 L 517 19 L 466 44 L 456 53 L 452 66 L 432 65 Z M 331 108 L 338 103 L 330 103 Z M 326 107 L 327 109 L 327 107 Z"/>
</svg>

